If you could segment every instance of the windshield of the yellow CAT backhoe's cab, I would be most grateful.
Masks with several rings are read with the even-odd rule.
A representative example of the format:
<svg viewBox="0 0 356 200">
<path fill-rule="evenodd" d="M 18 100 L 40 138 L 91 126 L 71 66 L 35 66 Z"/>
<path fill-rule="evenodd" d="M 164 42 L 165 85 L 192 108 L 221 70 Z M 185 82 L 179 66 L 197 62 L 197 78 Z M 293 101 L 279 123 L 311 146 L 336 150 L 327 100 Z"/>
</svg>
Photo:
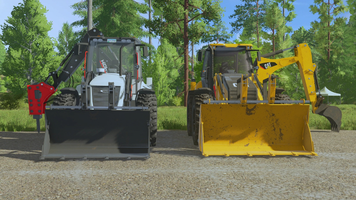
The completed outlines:
<svg viewBox="0 0 356 200">
<path fill-rule="evenodd" d="M 246 50 L 216 50 L 214 52 L 214 74 L 248 74 L 251 75 L 252 61 Z"/>
</svg>

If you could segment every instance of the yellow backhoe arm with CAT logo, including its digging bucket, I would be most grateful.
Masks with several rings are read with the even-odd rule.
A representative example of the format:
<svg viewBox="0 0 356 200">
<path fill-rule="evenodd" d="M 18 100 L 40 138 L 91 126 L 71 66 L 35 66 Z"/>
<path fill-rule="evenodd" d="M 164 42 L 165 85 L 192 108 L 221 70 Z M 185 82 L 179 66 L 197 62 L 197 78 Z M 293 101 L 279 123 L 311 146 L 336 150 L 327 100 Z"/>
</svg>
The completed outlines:
<svg viewBox="0 0 356 200">
<path fill-rule="evenodd" d="M 308 44 L 301 43 L 294 46 L 295 56 L 293 57 L 280 59 L 265 58 L 267 56 L 282 53 L 283 50 L 275 52 L 277 53 L 272 52 L 262 55 L 261 61 L 257 61 L 257 76 L 259 81 L 262 83 L 263 80 L 268 79 L 268 76 L 272 75 L 276 70 L 297 63 L 303 81 L 305 95 L 307 100 L 312 104 L 312 112 L 326 117 L 331 123 L 332 130 L 339 132 L 342 117 L 341 111 L 335 106 L 322 104 L 324 98 L 320 95 L 318 80 L 315 74 L 316 65 L 312 62 L 312 52 Z"/>
</svg>

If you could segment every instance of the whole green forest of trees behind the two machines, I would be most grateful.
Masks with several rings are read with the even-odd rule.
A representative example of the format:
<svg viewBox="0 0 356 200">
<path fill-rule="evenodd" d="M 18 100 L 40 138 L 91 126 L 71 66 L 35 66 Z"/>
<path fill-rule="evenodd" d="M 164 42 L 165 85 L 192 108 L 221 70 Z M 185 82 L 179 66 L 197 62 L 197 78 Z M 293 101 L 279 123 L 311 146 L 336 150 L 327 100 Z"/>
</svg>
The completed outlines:
<svg viewBox="0 0 356 200">
<path fill-rule="evenodd" d="M 189 0 L 187 4 L 184 0 L 151 0 L 151 9 L 148 0 L 93 0 L 93 27 L 109 37 L 158 40 L 158 45 L 147 42 L 150 56 L 143 60 L 143 73 L 144 80 L 153 78 L 159 106 L 184 105 L 184 85 L 190 85 L 191 65 L 199 81 L 202 63 L 197 62 L 197 51 L 207 43 L 252 43 L 265 54 L 304 42 L 312 49 L 320 88 L 326 86 L 340 93 L 343 104 L 356 104 L 356 0 L 310 0 L 305 9 L 317 19 L 308 30 L 291 26 L 298 15 L 294 4 L 299 1 L 241 0 L 231 4 L 233 12 L 226 13 L 220 0 Z M 23 0 L 13 7 L 1 25 L 1 108 L 18 108 L 26 98 L 26 85 L 44 80 L 79 42 L 87 27 L 87 1 L 73 3 L 71 8 L 78 20 L 64 23 L 58 36 L 52 38 L 48 32 L 53 24 L 39 0 Z M 145 17 L 149 12 L 151 20 Z M 350 14 L 345 17 L 345 13 Z M 229 23 L 223 20 L 226 16 Z M 293 56 L 292 51 L 275 58 L 289 56 Z M 305 98 L 296 65 L 279 70 L 277 75 L 284 93 L 292 99 Z M 80 84 L 81 76 L 83 72 L 78 70 L 74 87 Z"/>
</svg>

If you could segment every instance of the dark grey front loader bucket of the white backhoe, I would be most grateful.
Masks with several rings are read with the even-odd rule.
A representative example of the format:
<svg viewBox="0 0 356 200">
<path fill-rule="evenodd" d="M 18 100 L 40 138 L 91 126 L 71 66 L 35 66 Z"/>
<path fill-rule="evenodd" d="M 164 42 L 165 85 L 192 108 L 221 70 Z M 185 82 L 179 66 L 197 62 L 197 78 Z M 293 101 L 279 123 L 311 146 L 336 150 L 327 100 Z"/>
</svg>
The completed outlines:
<svg viewBox="0 0 356 200">
<path fill-rule="evenodd" d="M 46 110 L 41 159 L 149 158 L 149 111 Z"/>
</svg>

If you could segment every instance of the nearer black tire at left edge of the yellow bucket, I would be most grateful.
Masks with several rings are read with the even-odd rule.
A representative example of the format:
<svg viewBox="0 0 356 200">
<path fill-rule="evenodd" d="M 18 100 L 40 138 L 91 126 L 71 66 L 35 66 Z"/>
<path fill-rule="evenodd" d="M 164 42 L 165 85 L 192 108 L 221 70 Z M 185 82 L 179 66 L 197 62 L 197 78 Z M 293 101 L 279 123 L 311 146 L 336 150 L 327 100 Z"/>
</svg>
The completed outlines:
<svg viewBox="0 0 356 200">
<path fill-rule="evenodd" d="M 195 146 L 198 146 L 198 139 L 199 139 L 199 121 L 200 121 L 200 105 L 203 104 L 203 101 L 205 100 L 214 100 L 214 97 L 210 94 L 198 94 L 194 96 L 194 131 L 192 131 L 192 138 L 193 138 L 193 143 Z"/>
</svg>

